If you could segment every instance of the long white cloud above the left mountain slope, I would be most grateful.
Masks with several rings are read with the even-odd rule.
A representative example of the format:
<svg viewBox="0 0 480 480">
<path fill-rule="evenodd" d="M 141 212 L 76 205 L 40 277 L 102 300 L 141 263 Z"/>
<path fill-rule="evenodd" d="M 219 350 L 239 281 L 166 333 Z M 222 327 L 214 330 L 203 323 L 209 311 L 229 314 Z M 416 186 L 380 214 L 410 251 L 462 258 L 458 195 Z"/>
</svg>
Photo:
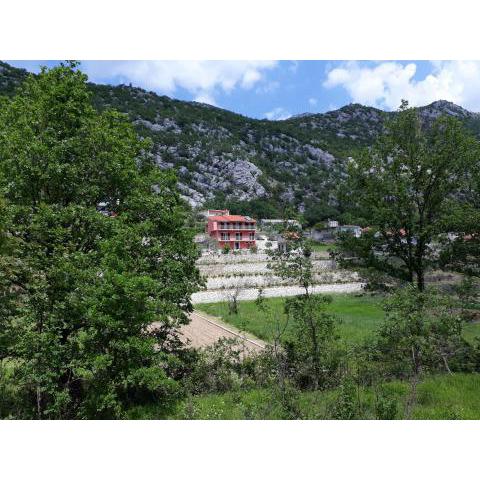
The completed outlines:
<svg viewBox="0 0 480 480">
<path fill-rule="evenodd" d="M 264 80 L 265 70 L 276 65 L 275 61 L 86 61 L 82 69 L 93 82 L 113 78 L 165 94 L 183 88 L 211 103 L 215 91 L 251 89 Z"/>
</svg>

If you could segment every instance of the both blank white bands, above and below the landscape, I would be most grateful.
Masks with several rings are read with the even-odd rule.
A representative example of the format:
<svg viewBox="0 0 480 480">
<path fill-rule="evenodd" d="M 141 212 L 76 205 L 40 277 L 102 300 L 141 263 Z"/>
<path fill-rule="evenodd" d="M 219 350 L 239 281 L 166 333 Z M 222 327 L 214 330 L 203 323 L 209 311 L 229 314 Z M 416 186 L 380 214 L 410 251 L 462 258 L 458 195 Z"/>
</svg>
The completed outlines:
<svg viewBox="0 0 480 480">
<path fill-rule="evenodd" d="M 3 59 L 479 59 L 443 0 L 4 2 Z M 0 422 L 22 479 L 368 478 L 478 472 L 476 422 Z"/>
</svg>

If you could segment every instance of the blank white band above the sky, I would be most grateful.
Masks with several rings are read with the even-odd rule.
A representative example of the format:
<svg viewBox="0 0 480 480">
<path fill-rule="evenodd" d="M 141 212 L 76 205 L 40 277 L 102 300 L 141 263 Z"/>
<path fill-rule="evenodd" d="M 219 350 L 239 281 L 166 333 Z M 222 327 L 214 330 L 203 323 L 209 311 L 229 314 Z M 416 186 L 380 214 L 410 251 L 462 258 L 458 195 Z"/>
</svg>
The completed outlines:
<svg viewBox="0 0 480 480">
<path fill-rule="evenodd" d="M 16 0 L 4 59 L 474 60 L 472 0 Z"/>
</svg>

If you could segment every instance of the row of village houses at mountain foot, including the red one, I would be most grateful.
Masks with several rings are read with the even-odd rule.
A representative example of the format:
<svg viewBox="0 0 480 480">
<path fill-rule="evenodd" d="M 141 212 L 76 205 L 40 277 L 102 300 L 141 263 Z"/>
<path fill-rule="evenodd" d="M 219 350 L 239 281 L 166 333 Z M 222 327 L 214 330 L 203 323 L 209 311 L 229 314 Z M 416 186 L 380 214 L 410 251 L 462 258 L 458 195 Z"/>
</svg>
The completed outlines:
<svg viewBox="0 0 480 480">
<path fill-rule="evenodd" d="M 248 215 L 232 215 L 226 209 L 211 209 L 200 212 L 205 231 L 195 236 L 195 242 L 204 252 L 256 253 L 285 248 L 282 234 L 285 224 L 295 227 L 301 235 L 313 243 L 333 244 L 340 233 L 362 235 L 358 225 L 340 225 L 336 220 L 325 222 L 324 228 L 302 230 L 297 220 L 263 218 L 260 220 Z"/>
</svg>

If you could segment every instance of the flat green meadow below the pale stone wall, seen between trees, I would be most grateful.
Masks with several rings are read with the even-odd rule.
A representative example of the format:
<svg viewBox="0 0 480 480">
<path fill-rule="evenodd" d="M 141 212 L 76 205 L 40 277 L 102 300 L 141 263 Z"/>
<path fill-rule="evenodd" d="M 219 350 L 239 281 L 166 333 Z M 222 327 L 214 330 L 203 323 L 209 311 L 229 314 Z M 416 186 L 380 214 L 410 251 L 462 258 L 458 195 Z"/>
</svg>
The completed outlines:
<svg viewBox="0 0 480 480">
<path fill-rule="evenodd" d="M 383 320 L 382 297 L 332 295 L 332 299 L 327 311 L 333 313 L 337 318 L 340 337 L 348 343 L 358 343 L 367 339 Z M 207 314 L 221 317 L 225 322 L 240 330 L 250 332 L 268 342 L 273 338 L 272 318 L 278 316 L 284 323 L 286 316 L 284 299 L 267 298 L 265 302 L 271 314 L 260 311 L 254 301 L 239 302 L 238 314 L 230 314 L 225 302 L 202 304 L 198 306 L 198 309 Z"/>
</svg>

